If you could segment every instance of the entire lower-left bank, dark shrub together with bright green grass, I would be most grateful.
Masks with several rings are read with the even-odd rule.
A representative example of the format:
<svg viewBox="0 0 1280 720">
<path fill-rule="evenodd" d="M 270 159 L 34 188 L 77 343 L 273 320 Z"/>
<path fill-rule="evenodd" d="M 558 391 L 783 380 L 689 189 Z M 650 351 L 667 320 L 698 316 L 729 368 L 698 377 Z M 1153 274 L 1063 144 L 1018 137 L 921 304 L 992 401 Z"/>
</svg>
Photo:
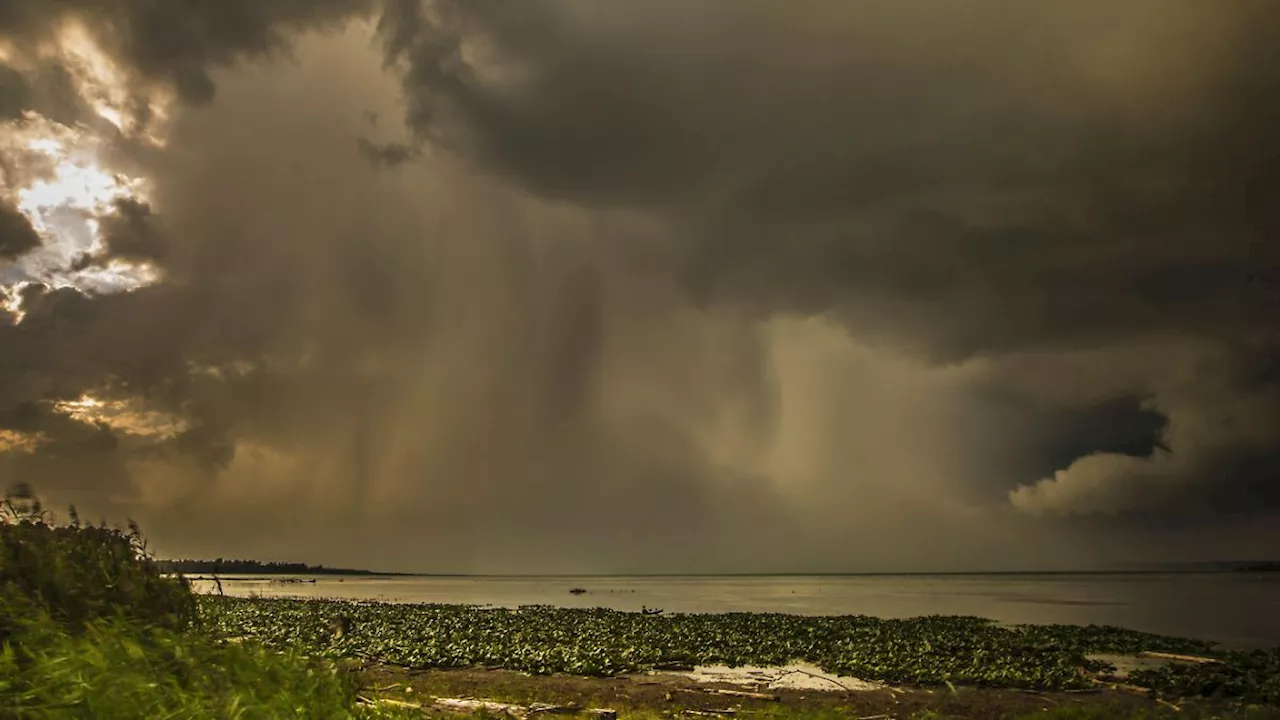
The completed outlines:
<svg viewBox="0 0 1280 720">
<path fill-rule="evenodd" d="M 56 525 L 24 495 L 0 503 L 0 717 L 403 716 L 332 662 L 216 641 L 136 527 Z"/>
</svg>

